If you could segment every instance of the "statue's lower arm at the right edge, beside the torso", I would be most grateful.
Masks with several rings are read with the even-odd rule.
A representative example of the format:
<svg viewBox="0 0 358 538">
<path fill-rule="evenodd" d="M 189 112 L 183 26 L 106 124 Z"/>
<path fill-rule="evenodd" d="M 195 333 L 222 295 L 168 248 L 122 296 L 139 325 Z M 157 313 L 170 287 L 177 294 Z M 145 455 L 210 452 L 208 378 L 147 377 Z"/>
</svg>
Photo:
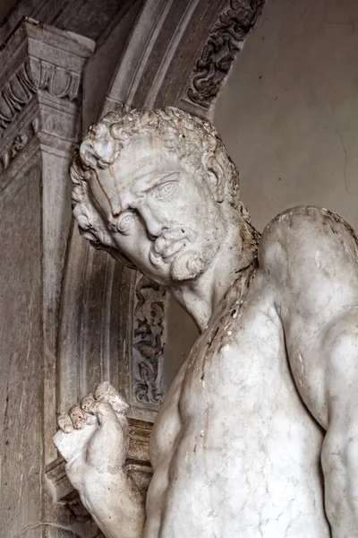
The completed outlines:
<svg viewBox="0 0 358 538">
<path fill-rule="evenodd" d="M 322 448 L 332 538 L 358 537 L 358 310 L 328 331 L 328 430 Z"/>
</svg>

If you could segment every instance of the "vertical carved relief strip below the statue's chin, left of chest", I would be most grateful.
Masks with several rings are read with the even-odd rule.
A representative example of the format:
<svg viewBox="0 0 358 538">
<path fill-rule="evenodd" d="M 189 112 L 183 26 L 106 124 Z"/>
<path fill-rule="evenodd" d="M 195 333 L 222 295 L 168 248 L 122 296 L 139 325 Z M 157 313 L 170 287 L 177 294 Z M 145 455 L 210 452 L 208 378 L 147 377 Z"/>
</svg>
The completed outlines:
<svg viewBox="0 0 358 538">
<path fill-rule="evenodd" d="M 164 288 L 139 275 L 133 322 L 132 390 L 139 404 L 158 409 L 163 401 L 162 369 L 166 345 Z"/>
</svg>

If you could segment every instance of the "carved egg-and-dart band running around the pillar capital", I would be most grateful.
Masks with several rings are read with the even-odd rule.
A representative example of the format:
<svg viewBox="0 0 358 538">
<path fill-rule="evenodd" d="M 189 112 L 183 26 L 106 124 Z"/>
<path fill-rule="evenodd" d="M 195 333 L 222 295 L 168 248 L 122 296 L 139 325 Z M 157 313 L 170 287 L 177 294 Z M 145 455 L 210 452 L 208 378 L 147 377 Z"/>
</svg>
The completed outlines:
<svg viewBox="0 0 358 538">
<path fill-rule="evenodd" d="M 0 91 L 0 134 L 4 134 L 4 129 L 36 91 L 47 91 L 53 97 L 72 101 L 78 95 L 80 81 L 80 74 L 27 57 Z"/>
</svg>

